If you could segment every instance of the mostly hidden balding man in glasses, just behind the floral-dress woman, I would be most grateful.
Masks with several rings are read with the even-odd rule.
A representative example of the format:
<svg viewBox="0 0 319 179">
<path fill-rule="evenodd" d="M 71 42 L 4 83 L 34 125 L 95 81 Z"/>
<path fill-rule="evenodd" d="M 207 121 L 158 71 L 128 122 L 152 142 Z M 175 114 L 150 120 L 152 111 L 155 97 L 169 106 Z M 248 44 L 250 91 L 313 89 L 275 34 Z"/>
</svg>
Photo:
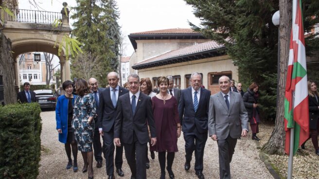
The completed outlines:
<svg viewBox="0 0 319 179">
<path fill-rule="evenodd" d="M 94 95 L 95 99 L 95 104 L 96 104 L 96 111 L 99 111 L 99 100 L 101 97 L 101 93 L 104 90 L 103 88 L 99 88 L 99 83 L 95 78 L 90 78 L 89 79 L 89 86 L 90 90 Z M 100 140 L 100 133 L 99 133 L 99 127 L 98 127 L 98 115 L 94 117 L 94 138 L 93 138 L 93 149 L 94 149 L 94 158 L 96 163 L 97 168 L 102 167 L 102 144 Z"/>
</svg>

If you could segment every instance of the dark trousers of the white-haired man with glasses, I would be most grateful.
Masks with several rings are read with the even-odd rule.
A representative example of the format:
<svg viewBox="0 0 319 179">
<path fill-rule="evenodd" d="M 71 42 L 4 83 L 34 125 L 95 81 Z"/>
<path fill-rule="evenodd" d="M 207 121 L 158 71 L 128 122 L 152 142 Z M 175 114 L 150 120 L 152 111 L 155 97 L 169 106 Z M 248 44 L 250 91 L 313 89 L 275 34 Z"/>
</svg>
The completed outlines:
<svg viewBox="0 0 319 179">
<path fill-rule="evenodd" d="M 185 158 L 186 162 L 191 162 L 193 152 L 195 151 L 195 172 L 203 172 L 204 148 L 207 141 L 207 132 L 199 133 L 196 129 L 194 132 L 184 132 L 185 140 Z"/>
</svg>

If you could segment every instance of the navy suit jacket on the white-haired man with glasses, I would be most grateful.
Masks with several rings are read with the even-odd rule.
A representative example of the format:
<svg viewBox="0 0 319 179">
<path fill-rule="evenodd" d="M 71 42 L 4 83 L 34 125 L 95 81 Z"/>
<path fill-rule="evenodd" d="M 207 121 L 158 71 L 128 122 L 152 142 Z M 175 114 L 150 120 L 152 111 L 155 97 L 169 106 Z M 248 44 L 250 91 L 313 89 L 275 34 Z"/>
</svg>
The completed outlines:
<svg viewBox="0 0 319 179">
<path fill-rule="evenodd" d="M 198 109 L 195 112 L 192 87 L 181 90 L 178 113 L 183 132 L 193 132 L 195 128 L 199 133 L 207 132 L 210 95 L 210 90 L 200 88 Z"/>
</svg>

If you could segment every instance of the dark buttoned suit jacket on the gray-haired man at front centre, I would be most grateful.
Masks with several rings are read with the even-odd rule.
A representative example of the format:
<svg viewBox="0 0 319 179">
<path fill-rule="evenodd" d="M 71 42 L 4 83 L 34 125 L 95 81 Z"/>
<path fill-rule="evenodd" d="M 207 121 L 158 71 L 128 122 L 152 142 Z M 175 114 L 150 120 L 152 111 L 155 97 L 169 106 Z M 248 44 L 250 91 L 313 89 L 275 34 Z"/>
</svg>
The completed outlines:
<svg viewBox="0 0 319 179">
<path fill-rule="evenodd" d="M 151 97 L 141 92 L 137 100 L 135 114 L 133 115 L 129 93 L 119 97 L 114 138 L 120 138 L 122 143 L 133 143 L 134 133 L 140 143 L 149 142 L 147 124 L 150 128 L 151 137 L 156 137 Z"/>
</svg>

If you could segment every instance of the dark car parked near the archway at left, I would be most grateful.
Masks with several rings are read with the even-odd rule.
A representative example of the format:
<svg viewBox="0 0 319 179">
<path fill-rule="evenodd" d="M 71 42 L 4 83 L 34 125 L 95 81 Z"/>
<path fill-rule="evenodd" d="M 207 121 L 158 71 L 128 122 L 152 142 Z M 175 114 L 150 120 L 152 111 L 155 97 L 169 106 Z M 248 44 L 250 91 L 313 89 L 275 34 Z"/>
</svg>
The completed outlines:
<svg viewBox="0 0 319 179">
<path fill-rule="evenodd" d="M 52 90 L 34 90 L 36 102 L 41 108 L 51 108 L 55 110 L 56 96 Z"/>
</svg>

